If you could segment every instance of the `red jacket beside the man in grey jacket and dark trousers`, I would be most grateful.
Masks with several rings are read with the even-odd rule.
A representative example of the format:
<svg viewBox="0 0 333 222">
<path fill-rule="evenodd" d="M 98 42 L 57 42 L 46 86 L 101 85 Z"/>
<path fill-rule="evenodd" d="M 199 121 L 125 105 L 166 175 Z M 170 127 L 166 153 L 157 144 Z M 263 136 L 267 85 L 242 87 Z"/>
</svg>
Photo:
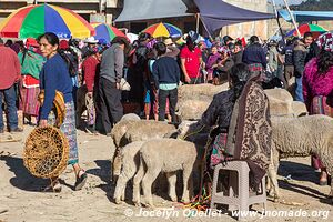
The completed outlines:
<svg viewBox="0 0 333 222">
<path fill-rule="evenodd" d="M 88 92 L 92 92 L 93 90 L 95 75 L 100 72 L 99 64 L 100 61 L 94 56 L 88 57 L 82 63 Z"/>
</svg>

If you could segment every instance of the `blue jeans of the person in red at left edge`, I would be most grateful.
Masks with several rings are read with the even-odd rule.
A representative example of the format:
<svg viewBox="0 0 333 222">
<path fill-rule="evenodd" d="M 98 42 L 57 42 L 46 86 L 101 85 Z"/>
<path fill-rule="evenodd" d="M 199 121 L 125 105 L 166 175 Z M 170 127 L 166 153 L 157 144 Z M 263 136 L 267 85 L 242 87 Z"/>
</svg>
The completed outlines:
<svg viewBox="0 0 333 222">
<path fill-rule="evenodd" d="M 17 109 L 17 93 L 14 85 L 9 89 L 0 90 L 0 129 L 3 129 L 3 112 L 2 112 L 2 97 L 4 95 L 4 102 L 8 111 L 8 125 L 9 130 L 18 128 L 18 109 Z"/>
</svg>

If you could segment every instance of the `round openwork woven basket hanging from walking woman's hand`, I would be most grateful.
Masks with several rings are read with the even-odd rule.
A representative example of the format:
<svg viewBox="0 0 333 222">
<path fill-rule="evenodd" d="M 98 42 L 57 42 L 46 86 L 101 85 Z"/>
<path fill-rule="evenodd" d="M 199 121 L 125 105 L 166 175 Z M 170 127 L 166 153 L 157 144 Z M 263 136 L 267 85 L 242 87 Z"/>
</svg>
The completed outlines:
<svg viewBox="0 0 333 222">
<path fill-rule="evenodd" d="M 54 127 L 36 128 L 27 138 L 23 163 L 38 178 L 57 178 L 67 168 L 69 143 Z"/>
</svg>

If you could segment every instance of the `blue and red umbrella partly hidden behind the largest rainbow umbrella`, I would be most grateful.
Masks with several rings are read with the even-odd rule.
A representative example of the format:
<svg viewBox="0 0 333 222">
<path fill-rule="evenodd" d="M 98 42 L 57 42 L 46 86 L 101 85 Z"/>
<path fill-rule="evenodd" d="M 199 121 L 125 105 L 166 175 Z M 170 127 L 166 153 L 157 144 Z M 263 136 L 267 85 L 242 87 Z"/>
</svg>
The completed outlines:
<svg viewBox="0 0 333 222">
<path fill-rule="evenodd" d="M 118 30 L 115 27 L 111 27 L 109 24 L 100 23 L 100 22 L 91 23 L 91 26 L 95 30 L 94 38 L 98 40 L 104 39 L 105 41 L 110 42 L 110 41 L 112 41 L 112 39 L 114 39 L 114 37 L 127 38 L 127 36 L 123 32 L 121 32 L 120 30 Z"/>
</svg>

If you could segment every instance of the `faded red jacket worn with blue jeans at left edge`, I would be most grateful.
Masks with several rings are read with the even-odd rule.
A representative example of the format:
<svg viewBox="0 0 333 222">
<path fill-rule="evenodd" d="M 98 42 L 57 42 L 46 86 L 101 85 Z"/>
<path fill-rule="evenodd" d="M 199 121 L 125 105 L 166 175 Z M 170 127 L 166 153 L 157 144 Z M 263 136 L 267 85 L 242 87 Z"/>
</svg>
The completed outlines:
<svg viewBox="0 0 333 222">
<path fill-rule="evenodd" d="M 0 90 L 9 89 L 21 78 L 21 64 L 17 53 L 0 44 Z"/>
</svg>

